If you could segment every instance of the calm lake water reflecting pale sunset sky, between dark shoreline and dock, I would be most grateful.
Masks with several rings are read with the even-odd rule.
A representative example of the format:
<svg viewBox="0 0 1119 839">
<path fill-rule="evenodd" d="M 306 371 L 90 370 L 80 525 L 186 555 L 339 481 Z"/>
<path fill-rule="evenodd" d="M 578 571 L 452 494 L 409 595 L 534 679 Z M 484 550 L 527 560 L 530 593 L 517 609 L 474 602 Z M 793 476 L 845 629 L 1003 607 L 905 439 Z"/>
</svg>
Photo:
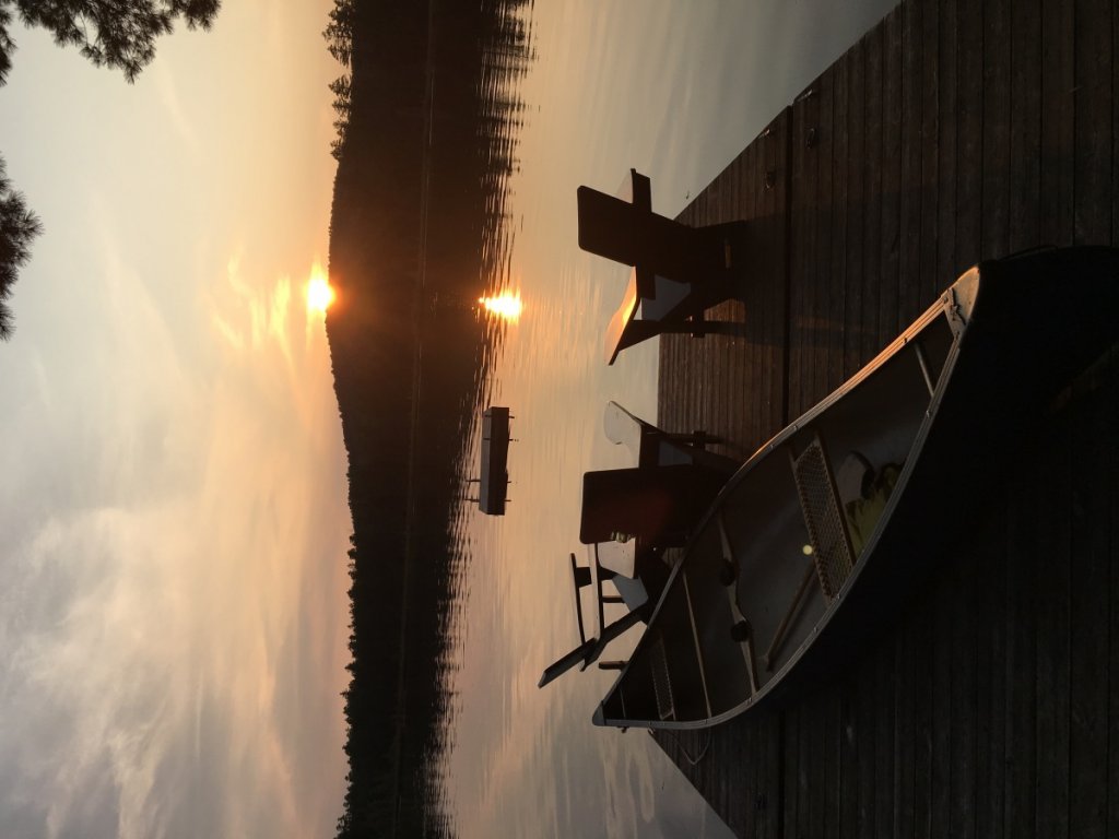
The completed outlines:
<svg viewBox="0 0 1119 839">
<path fill-rule="evenodd" d="M 675 216 L 893 6 L 627 0 L 532 11 L 511 256 L 496 279 L 525 309 L 485 384 L 488 403 L 515 416 L 510 503 L 504 518 L 466 502 L 455 513 L 460 611 L 440 769 L 460 835 L 728 835 L 647 733 L 591 725 L 614 673 L 536 687 L 579 641 L 567 556 L 583 556 L 583 472 L 630 465 L 603 435 L 606 402 L 657 414 L 656 341 L 603 361 L 628 268 L 579 251 L 575 190 L 613 192 L 636 167 L 652 179 L 653 209 Z M 466 463 L 476 451 L 477 441 Z M 638 632 L 609 657 L 624 657 Z"/>
</svg>

